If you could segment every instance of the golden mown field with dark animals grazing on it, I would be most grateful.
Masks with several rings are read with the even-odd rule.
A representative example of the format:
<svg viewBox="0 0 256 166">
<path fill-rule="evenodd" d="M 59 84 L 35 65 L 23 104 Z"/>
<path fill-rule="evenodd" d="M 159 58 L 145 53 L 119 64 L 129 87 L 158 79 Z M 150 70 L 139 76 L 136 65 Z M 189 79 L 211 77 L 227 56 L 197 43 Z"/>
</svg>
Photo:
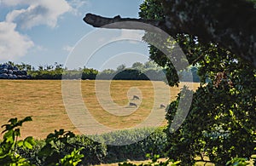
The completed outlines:
<svg viewBox="0 0 256 166">
<path fill-rule="evenodd" d="M 162 90 L 169 89 L 165 83 L 154 83 L 158 87 L 163 87 Z M 195 89 L 197 86 L 198 84 L 195 84 Z M 62 100 L 61 80 L 0 80 L 0 89 L 0 124 L 6 123 L 11 117 L 32 116 L 33 121 L 25 123 L 21 129 L 23 138 L 32 135 L 34 138 L 44 139 L 55 129 L 66 129 L 80 134 L 67 116 Z M 135 89 L 134 93 L 140 92 L 142 99 L 131 100 L 132 90 L 129 89 Z M 164 112 L 164 109 L 154 106 L 154 87 L 150 81 L 112 81 L 110 95 L 113 102 L 123 107 L 121 111 L 131 111 L 131 114 L 125 116 L 115 116 L 102 108 L 96 96 L 95 81 L 82 81 L 81 90 L 84 104 L 93 117 L 110 128 L 131 128 L 142 123 L 152 108 L 158 109 L 158 112 Z M 180 88 L 169 90 L 170 100 L 174 100 Z M 138 104 L 137 109 L 127 106 L 131 101 Z M 165 101 L 164 104 L 168 103 L 166 100 L 163 101 Z M 161 100 L 158 102 L 157 105 Z M 164 124 L 166 124 L 165 121 L 162 125 Z"/>
</svg>

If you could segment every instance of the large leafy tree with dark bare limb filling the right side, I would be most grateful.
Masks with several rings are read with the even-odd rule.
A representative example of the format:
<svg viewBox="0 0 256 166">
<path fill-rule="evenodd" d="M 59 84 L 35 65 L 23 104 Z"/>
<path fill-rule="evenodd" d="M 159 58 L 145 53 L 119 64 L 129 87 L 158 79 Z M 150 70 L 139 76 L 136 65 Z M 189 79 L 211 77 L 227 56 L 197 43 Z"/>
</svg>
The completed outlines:
<svg viewBox="0 0 256 166">
<path fill-rule="evenodd" d="M 224 165 L 233 157 L 250 158 L 256 147 L 254 3 L 145 0 L 140 9 L 141 19 L 87 14 L 84 20 L 107 28 L 143 29 L 125 23 L 121 27 L 108 25 L 119 21 L 158 26 L 176 39 L 189 63 L 198 66 L 201 87 L 194 93 L 187 118 L 172 133 L 169 129 L 174 117 L 178 117 L 177 106 L 184 96 L 178 94 L 167 110 L 168 156 L 183 165 L 194 164 L 196 156 L 204 161 L 203 154 L 216 165 Z M 166 68 L 168 83 L 177 85 L 177 72 L 166 55 L 154 46 L 150 46 L 149 53 L 151 60 Z M 210 82 L 202 86 L 207 78 Z M 189 91 L 183 88 L 183 92 Z"/>
</svg>

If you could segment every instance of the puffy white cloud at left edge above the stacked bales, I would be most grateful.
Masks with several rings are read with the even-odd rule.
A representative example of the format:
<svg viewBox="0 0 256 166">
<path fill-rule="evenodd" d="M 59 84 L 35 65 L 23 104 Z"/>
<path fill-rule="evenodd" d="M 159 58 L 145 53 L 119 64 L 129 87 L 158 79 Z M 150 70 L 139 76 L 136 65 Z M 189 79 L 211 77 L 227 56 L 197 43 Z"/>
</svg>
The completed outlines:
<svg viewBox="0 0 256 166">
<path fill-rule="evenodd" d="M 0 22 L 0 60 L 15 60 L 34 46 L 29 37 L 15 31 L 15 23 Z"/>
</svg>

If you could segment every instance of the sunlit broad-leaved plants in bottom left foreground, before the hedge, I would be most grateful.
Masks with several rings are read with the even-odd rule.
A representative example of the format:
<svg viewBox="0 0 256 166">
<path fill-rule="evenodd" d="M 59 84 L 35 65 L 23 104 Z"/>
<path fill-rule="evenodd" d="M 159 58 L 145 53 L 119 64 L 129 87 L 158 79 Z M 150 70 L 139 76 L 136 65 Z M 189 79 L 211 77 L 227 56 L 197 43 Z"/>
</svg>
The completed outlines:
<svg viewBox="0 0 256 166">
<path fill-rule="evenodd" d="M 17 148 L 31 149 L 36 145 L 36 141 L 32 136 L 26 137 L 24 140 L 19 140 L 20 127 L 23 123 L 32 121 L 32 117 L 25 117 L 21 120 L 11 118 L 9 123 L 3 124 L 4 128 L 3 140 L 0 140 L 0 165 L 36 165 L 31 163 L 25 157 L 22 157 L 17 152 Z M 70 154 L 61 154 L 61 149 L 67 147 L 67 139 L 73 137 L 72 132 L 60 129 L 55 130 L 55 133 L 49 134 L 45 140 L 44 146 L 39 150 L 38 157 L 44 158 L 42 165 L 77 165 L 84 155 L 80 154 L 83 148 L 78 150 L 73 148 Z"/>
</svg>

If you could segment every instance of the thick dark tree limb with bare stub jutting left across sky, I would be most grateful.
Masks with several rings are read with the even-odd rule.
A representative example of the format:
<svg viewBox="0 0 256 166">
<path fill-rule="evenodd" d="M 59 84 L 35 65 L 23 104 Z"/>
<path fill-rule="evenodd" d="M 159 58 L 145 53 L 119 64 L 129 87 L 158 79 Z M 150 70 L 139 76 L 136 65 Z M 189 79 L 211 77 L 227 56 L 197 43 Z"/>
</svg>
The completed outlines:
<svg viewBox="0 0 256 166">
<path fill-rule="evenodd" d="M 139 21 L 158 26 L 175 37 L 186 33 L 199 38 L 201 43 L 218 43 L 233 54 L 256 66 L 256 9 L 247 0 L 160 0 L 163 6 L 161 20 L 155 18 L 105 18 L 86 14 L 84 21 L 101 27 L 119 21 Z M 107 26 L 108 28 L 143 29 L 143 27 Z"/>
</svg>

